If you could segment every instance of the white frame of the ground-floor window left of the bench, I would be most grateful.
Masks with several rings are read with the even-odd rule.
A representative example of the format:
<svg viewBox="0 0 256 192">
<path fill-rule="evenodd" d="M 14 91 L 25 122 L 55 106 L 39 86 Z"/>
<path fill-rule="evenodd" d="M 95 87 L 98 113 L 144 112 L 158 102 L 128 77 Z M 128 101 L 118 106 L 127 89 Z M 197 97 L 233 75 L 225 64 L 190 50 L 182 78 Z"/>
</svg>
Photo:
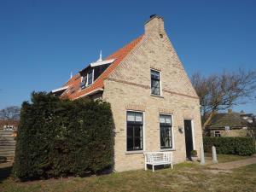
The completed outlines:
<svg viewBox="0 0 256 192">
<path fill-rule="evenodd" d="M 141 150 L 127 150 L 127 112 L 137 112 L 143 113 L 143 149 Z M 137 110 L 125 110 L 125 154 L 143 154 L 146 151 L 146 141 L 145 141 L 145 112 L 144 111 L 137 111 Z"/>
</svg>

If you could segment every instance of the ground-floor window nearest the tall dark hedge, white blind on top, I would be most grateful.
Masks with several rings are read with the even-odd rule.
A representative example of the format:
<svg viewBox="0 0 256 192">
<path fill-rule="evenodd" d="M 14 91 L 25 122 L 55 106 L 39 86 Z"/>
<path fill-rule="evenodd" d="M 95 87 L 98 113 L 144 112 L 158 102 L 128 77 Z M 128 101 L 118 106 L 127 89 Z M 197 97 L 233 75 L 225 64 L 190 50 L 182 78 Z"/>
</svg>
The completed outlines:
<svg viewBox="0 0 256 192">
<path fill-rule="evenodd" d="M 127 151 L 143 149 L 143 113 L 127 112 Z"/>
</svg>

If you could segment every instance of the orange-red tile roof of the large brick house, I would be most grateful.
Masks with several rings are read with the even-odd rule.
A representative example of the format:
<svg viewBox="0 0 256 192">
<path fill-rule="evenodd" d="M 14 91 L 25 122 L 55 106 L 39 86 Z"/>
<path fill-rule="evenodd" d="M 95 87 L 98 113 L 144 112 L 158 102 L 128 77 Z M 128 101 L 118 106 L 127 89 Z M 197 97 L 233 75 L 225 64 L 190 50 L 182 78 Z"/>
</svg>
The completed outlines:
<svg viewBox="0 0 256 192">
<path fill-rule="evenodd" d="M 143 35 L 139 38 L 133 40 L 130 44 L 126 44 L 125 47 L 119 49 L 113 55 L 109 55 L 105 60 L 115 59 L 113 63 L 98 77 L 93 84 L 84 90 L 80 89 L 81 76 L 76 74 L 72 79 L 69 79 L 64 86 L 69 86 L 67 90 L 62 94 L 61 97 L 67 97 L 69 99 L 77 99 L 81 96 L 84 96 L 90 92 L 93 92 L 98 89 L 104 88 L 104 79 L 108 78 L 108 75 L 113 72 L 113 70 L 119 66 L 119 63 L 125 59 L 125 56 L 128 55 L 131 50 L 142 40 Z"/>
</svg>

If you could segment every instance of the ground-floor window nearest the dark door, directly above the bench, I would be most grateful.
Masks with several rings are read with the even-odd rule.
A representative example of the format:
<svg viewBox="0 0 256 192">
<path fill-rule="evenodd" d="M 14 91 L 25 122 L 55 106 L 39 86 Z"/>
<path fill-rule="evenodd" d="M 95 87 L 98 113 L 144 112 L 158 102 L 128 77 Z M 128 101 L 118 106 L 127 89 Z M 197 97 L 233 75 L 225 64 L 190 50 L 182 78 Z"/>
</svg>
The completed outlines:
<svg viewBox="0 0 256 192">
<path fill-rule="evenodd" d="M 172 116 L 160 114 L 160 148 L 172 148 Z"/>
</svg>

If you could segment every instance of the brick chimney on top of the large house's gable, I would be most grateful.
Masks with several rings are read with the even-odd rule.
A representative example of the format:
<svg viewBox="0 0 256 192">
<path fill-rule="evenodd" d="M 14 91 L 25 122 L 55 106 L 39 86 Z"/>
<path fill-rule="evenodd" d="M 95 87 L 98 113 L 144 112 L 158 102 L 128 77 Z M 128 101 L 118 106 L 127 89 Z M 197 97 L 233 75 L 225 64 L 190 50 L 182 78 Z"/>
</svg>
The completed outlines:
<svg viewBox="0 0 256 192">
<path fill-rule="evenodd" d="M 160 37 L 165 33 L 164 19 L 159 15 L 150 15 L 149 20 L 145 23 L 145 34 L 157 32 Z"/>
</svg>

